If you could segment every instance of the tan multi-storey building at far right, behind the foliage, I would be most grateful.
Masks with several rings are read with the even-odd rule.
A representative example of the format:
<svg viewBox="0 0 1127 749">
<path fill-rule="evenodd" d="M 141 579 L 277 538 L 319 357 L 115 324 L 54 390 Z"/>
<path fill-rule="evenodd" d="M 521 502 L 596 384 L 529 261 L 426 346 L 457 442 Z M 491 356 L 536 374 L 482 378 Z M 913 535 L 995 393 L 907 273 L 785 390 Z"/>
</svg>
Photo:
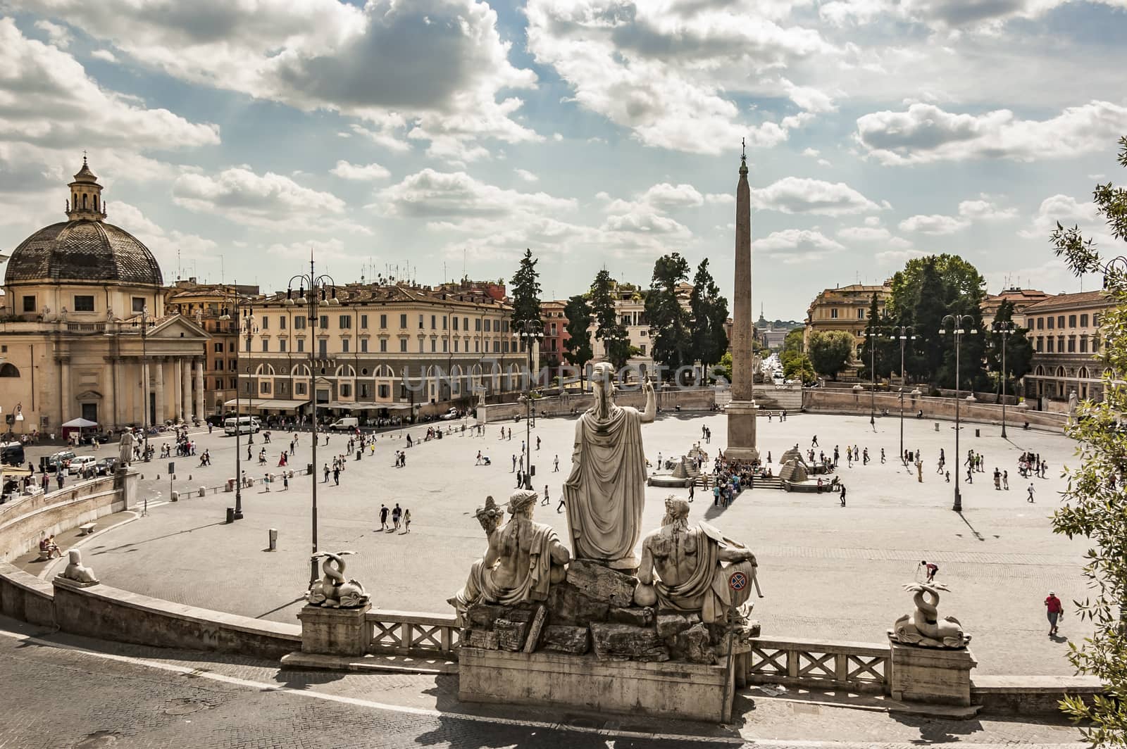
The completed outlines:
<svg viewBox="0 0 1127 749">
<path fill-rule="evenodd" d="M 1023 327 L 1033 344 L 1032 368 L 1023 380 L 1027 401 L 1040 410 L 1061 410 L 1072 392 L 1080 400 L 1103 398 L 1104 366 L 1097 355 L 1108 306 L 1103 292 L 1081 292 L 1049 296 L 1024 309 Z"/>
</svg>

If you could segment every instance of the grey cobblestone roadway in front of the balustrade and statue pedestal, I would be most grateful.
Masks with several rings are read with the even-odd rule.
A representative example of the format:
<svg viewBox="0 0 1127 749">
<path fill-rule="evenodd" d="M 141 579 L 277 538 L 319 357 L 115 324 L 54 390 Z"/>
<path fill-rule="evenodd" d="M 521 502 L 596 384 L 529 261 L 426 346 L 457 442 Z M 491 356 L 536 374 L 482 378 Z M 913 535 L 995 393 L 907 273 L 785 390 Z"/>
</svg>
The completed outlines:
<svg viewBox="0 0 1127 749">
<path fill-rule="evenodd" d="M 930 720 L 744 690 L 718 726 L 458 703 L 456 677 L 289 671 L 107 643 L 0 617 L 0 747 L 1077 748 L 1063 723 Z"/>
</svg>

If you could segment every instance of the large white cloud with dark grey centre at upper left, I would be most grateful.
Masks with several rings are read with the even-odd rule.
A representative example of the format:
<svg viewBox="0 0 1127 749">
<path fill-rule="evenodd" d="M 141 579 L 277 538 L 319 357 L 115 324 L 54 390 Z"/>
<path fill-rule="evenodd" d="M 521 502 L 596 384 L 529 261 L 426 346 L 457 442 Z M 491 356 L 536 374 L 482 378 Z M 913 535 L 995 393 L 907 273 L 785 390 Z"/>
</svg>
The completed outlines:
<svg viewBox="0 0 1127 749">
<path fill-rule="evenodd" d="M 535 74 L 509 63 L 497 14 L 479 0 L 19 2 L 178 79 L 361 117 L 392 143 L 408 133 L 540 139 L 514 119 L 522 100 L 507 93 L 533 88 Z M 401 128 L 389 132 L 389 118 Z"/>
</svg>

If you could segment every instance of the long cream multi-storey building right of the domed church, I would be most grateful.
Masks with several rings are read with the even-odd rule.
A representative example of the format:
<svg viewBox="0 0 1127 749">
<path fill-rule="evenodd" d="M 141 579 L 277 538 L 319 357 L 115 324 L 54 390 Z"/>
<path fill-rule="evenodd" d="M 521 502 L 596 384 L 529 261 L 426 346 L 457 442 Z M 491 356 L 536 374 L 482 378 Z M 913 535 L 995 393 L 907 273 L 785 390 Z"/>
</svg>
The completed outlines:
<svg viewBox="0 0 1127 749">
<path fill-rule="evenodd" d="M 312 393 L 330 413 L 418 416 L 472 405 L 480 389 L 492 398 L 524 389 L 527 354 L 513 307 L 479 288 L 348 284 L 313 318 L 296 296 L 250 305 L 238 371 L 243 412 L 304 414 Z"/>
</svg>

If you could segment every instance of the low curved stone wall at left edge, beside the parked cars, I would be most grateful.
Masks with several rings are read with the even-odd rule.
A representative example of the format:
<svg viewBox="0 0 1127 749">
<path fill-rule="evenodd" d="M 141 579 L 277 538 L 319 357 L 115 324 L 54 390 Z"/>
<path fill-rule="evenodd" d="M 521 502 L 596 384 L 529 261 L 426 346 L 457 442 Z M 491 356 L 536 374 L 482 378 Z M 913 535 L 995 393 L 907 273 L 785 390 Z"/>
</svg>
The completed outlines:
<svg viewBox="0 0 1127 749">
<path fill-rule="evenodd" d="M 126 491 L 115 488 L 122 480 Z M 36 549 L 43 535 L 57 534 L 128 509 L 136 474 L 79 481 L 47 494 L 0 505 L 0 561 Z"/>
</svg>

